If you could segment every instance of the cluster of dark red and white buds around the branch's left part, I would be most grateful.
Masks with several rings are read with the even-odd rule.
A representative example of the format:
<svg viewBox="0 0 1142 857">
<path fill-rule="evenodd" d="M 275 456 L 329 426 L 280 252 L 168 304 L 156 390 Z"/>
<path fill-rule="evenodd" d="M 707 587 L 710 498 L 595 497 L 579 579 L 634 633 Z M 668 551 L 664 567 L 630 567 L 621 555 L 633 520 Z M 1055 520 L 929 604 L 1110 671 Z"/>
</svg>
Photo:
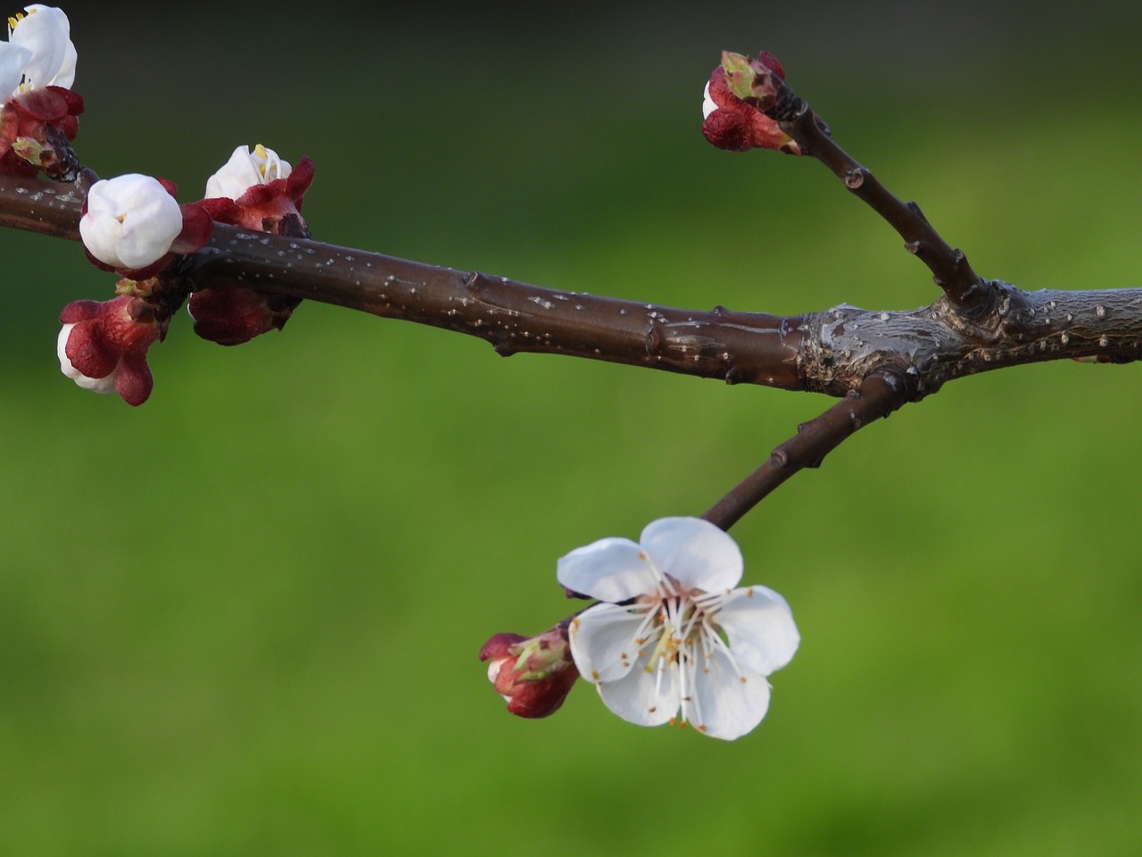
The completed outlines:
<svg viewBox="0 0 1142 857">
<path fill-rule="evenodd" d="M 87 390 L 116 392 L 129 405 L 145 401 L 153 386 L 147 350 L 163 338 L 185 295 L 168 275 L 174 259 L 204 246 L 216 222 L 307 233 L 300 206 L 312 179 L 307 158 L 291 170 L 272 150 L 257 146 L 250 153 L 240 146 L 207 183 L 208 194 L 234 198 L 179 206 L 175 186 L 161 178 L 131 174 L 96 182 L 83 206 L 80 237 L 93 264 L 123 278 L 121 294 L 102 304 L 79 301 L 64 307 L 58 342 L 64 375 Z M 297 303 L 244 288 L 203 289 L 191 296 L 190 309 L 195 333 L 235 345 L 280 329 Z"/>
</svg>

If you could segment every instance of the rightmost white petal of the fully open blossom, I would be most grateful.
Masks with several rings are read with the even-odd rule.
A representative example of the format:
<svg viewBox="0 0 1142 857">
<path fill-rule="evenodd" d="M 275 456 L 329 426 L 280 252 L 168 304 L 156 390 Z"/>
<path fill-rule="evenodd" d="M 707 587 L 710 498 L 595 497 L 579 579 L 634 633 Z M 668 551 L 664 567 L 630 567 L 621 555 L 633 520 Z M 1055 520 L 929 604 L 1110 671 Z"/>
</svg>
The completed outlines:
<svg viewBox="0 0 1142 857">
<path fill-rule="evenodd" d="M 765 586 L 731 592 L 715 620 L 725 631 L 738 663 L 762 675 L 788 664 L 801 642 L 789 604 Z"/>
</svg>

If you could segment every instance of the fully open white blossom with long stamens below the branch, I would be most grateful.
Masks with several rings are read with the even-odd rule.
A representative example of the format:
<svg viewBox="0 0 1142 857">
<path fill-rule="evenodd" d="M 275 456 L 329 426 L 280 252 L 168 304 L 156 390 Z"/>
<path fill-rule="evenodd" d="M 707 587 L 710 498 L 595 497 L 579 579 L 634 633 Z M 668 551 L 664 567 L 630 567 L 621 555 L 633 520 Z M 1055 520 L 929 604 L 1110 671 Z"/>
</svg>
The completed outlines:
<svg viewBox="0 0 1142 857">
<path fill-rule="evenodd" d="M 612 712 L 641 726 L 675 719 L 738 738 L 769 707 L 765 680 L 801 636 L 764 586 L 733 588 L 741 551 L 709 521 L 664 518 L 638 543 L 603 538 L 558 561 L 561 584 L 601 602 L 576 617 L 571 654 Z"/>
</svg>

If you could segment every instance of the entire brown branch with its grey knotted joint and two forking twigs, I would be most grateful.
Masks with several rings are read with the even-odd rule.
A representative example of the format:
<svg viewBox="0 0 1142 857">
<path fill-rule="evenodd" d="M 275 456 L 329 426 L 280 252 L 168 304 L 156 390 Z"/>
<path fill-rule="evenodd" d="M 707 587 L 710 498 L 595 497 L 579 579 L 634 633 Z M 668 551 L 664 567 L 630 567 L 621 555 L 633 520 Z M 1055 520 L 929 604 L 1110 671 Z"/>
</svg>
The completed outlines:
<svg viewBox="0 0 1142 857">
<path fill-rule="evenodd" d="M 801 468 L 818 466 L 862 425 L 948 381 L 1043 360 L 1142 357 L 1142 290 L 1026 293 L 983 283 L 918 208 L 850 166 L 855 162 L 807 107 L 796 126 L 799 144 L 906 237 L 944 285 L 943 297 L 904 312 L 846 305 L 795 317 L 679 310 L 220 224 L 166 279 L 182 294 L 242 286 L 431 325 L 485 339 L 502 355 L 558 353 L 843 397 L 706 512 L 723 528 Z M 74 240 L 81 206 L 75 186 L 0 176 L 0 225 Z"/>
</svg>

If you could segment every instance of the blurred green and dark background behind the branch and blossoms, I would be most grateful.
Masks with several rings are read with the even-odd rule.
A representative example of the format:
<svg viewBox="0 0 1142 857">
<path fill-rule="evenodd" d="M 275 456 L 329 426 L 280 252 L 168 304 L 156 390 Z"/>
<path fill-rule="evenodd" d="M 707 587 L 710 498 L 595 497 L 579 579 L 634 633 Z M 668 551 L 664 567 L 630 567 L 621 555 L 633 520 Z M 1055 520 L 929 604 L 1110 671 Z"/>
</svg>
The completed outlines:
<svg viewBox="0 0 1142 857">
<path fill-rule="evenodd" d="M 928 303 L 819 165 L 702 139 L 719 51 L 765 48 L 982 274 L 1139 285 L 1126 3 L 120 7 L 64 7 L 85 161 L 190 201 L 240 143 L 309 154 L 335 243 L 678 306 Z M 476 652 L 569 611 L 557 556 L 700 514 L 829 400 L 307 303 L 232 350 L 179 315 L 131 409 L 53 353 L 113 278 L 16 232 L 0 258 L 0 854 L 1142 852 L 1136 367 L 951 384 L 739 523 L 803 644 L 722 744 L 585 683 L 510 718 Z"/>
</svg>

